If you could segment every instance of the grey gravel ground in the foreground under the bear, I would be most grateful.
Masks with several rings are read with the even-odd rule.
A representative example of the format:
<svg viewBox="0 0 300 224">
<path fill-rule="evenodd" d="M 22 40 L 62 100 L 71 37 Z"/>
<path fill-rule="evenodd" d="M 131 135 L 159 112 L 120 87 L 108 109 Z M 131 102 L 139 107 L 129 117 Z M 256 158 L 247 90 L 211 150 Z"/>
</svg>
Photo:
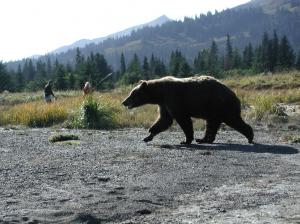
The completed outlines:
<svg viewBox="0 0 300 224">
<path fill-rule="evenodd" d="M 256 129 L 185 147 L 176 130 L 2 128 L 0 223 L 300 223 L 300 144 L 282 140 L 299 132 Z"/>
</svg>

